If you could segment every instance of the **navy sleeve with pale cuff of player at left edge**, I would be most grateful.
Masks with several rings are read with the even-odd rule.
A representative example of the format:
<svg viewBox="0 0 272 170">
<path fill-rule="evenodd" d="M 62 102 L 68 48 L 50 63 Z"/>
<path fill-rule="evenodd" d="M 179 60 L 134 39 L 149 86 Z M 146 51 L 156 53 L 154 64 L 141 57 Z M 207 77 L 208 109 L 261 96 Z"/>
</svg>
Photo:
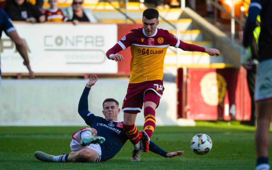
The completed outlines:
<svg viewBox="0 0 272 170">
<path fill-rule="evenodd" d="M 9 33 L 11 31 L 14 31 L 15 28 L 11 24 L 11 19 L 8 17 L 8 14 L 0 9 L 0 39 L 2 36 L 2 31 L 5 31 L 5 33 Z M 1 74 L 1 69 L 0 69 L 0 74 Z"/>
</svg>

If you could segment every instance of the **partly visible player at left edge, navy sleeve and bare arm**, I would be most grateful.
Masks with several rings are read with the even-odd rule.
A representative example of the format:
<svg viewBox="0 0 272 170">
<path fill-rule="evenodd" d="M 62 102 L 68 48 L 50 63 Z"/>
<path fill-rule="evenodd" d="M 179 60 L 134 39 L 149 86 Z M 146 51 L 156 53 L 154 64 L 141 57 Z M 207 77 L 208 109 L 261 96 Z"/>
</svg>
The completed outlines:
<svg viewBox="0 0 272 170">
<path fill-rule="evenodd" d="M 35 76 L 29 64 L 26 46 L 24 45 L 22 39 L 20 39 L 19 35 L 17 34 L 17 31 L 12 25 L 11 19 L 9 18 L 8 14 L 2 9 L 0 9 L 0 38 L 2 36 L 2 31 L 4 31 L 7 34 L 7 36 L 9 36 L 11 40 L 15 43 L 18 52 L 24 59 L 23 64 L 27 66 L 27 69 L 29 71 L 29 77 L 34 78 Z M 0 69 L 0 87 L 1 87 L 1 69 Z"/>
</svg>

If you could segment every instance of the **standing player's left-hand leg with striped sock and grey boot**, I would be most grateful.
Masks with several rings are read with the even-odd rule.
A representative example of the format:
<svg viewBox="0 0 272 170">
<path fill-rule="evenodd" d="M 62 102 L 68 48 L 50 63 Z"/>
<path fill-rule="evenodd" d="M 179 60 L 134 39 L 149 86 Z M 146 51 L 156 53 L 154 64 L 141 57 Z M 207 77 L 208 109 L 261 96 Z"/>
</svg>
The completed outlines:
<svg viewBox="0 0 272 170">
<path fill-rule="evenodd" d="M 136 113 L 136 114 L 133 114 L 133 113 Z M 139 131 L 137 127 L 135 126 L 137 111 L 133 111 L 133 113 L 124 112 L 123 127 L 127 137 L 129 138 L 129 140 L 134 146 L 131 161 L 140 161 L 142 149 L 141 149 L 141 143 L 139 138 Z"/>
</svg>

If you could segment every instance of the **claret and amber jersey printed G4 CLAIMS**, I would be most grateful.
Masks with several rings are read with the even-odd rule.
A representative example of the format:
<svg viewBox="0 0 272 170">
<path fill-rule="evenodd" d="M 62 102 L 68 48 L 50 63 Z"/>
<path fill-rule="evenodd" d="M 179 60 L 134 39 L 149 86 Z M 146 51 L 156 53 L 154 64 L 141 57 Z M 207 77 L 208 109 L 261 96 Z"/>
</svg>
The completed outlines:
<svg viewBox="0 0 272 170">
<path fill-rule="evenodd" d="M 145 34 L 143 28 L 133 29 L 118 44 L 122 49 L 130 46 L 130 83 L 162 80 L 166 50 L 178 47 L 179 39 L 167 30 L 158 29 L 153 35 Z"/>
</svg>

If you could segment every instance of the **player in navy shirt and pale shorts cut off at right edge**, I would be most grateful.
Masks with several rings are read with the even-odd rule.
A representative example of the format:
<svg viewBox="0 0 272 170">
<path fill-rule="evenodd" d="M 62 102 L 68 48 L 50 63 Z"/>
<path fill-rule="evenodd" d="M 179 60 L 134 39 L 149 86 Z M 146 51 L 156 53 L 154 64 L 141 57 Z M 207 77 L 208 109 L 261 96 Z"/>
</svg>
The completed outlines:
<svg viewBox="0 0 272 170">
<path fill-rule="evenodd" d="M 243 46 L 252 41 L 257 15 L 261 16 L 259 36 L 259 65 L 256 73 L 255 102 L 257 106 L 257 128 L 255 145 L 257 151 L 256 170 L 270 169 L 268 164 L 270 147 L 270 123 L 272 118 L 272 1 L 252 0 L 243 35 Z"/>
</svg>

